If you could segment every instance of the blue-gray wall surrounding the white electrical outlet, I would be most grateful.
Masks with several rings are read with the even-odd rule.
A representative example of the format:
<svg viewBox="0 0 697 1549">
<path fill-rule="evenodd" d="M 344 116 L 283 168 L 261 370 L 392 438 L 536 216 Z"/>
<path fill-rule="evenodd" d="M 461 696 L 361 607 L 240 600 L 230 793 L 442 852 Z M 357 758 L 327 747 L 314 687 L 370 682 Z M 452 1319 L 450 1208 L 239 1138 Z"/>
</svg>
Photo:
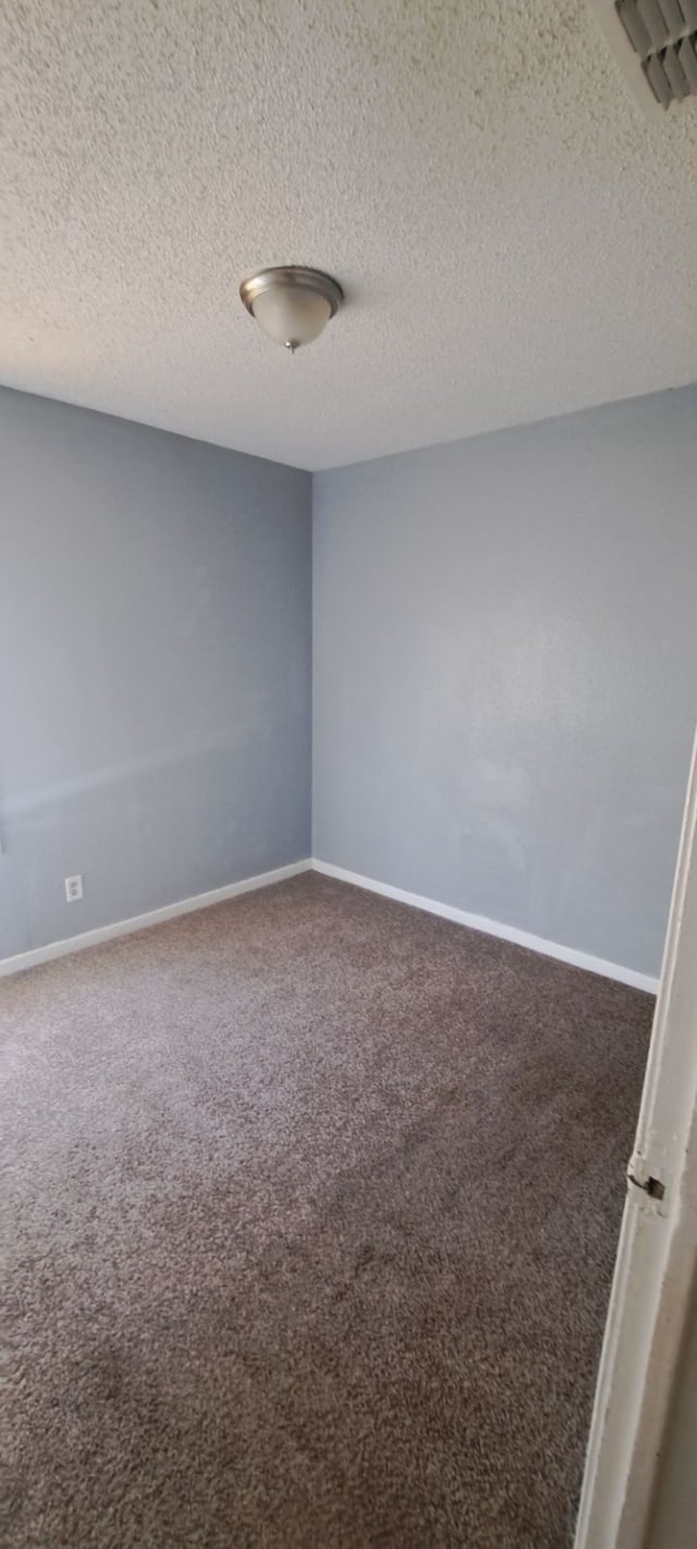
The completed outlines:
<svg viewBox="0 0 697 1549">
<path fill-rule="evenodd" d="M 310 496 L 0 392 L 0 957 L 308 855 Z"/>
</svg>

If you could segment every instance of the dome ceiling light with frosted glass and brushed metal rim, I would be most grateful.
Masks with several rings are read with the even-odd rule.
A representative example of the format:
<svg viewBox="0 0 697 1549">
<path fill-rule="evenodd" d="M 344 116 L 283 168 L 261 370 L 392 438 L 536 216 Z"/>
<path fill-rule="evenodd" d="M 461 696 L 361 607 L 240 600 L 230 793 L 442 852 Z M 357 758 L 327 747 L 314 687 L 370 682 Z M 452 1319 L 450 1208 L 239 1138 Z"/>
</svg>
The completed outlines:
<svg viewBox="0 0 697 1549">
<path fill-rule="evenodd" d="M 262 331 L 291 355 L 319 338 L 344 301 L 330 274 L 297 263 L 251 274 L 242 282 L 240 296 Z"/>
</svg>

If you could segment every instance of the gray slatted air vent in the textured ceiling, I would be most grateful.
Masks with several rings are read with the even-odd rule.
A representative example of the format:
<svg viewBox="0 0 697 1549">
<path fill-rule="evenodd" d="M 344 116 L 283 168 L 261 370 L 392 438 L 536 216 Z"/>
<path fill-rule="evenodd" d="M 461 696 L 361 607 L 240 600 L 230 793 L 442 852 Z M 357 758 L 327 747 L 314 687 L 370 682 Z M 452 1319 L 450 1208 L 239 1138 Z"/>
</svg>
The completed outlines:
<svg viewBox="0 0 697 1549">
<path fill-rule="evenodd" d="M 697 96 L 697 0 L 592 0 L 612 51 L 644 107 Z"/>
</svg>

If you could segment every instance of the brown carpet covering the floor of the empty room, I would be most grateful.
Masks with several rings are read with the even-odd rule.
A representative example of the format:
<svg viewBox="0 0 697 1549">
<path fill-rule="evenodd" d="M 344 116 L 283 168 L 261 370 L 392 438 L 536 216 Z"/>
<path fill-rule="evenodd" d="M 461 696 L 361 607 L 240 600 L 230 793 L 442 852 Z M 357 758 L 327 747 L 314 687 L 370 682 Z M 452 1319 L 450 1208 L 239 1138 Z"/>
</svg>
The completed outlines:
<svg viewBox="0 0 697 1549">
<path fill-rule="evenodd" d="M 0 981 L 3 1543 L 567 1546 L 651 1016 L 313 875 Z"/>
</svg>

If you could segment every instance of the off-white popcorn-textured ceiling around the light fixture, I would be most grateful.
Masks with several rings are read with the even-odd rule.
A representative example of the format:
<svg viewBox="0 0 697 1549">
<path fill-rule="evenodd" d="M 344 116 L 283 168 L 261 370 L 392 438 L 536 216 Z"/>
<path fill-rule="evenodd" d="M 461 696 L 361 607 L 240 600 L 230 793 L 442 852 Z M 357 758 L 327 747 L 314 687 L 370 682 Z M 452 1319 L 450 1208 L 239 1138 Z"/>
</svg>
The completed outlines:
<svg viewBox="0 0 697 1549">
<path fill-rule="evenodd" d="M 0 378 L 325 468 L 697 378 L 697 104 L 585 0 L 0 0 Z M 345 308 L 293 359 L 268 263 Z"/>
</svg>

